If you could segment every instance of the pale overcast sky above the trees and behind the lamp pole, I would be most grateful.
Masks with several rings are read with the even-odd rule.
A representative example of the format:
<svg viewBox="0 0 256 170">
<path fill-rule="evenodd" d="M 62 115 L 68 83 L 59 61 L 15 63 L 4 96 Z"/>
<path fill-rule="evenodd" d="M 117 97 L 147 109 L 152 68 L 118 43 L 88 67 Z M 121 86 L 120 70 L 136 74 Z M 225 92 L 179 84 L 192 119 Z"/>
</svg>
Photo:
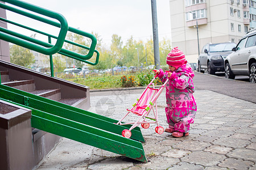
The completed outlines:
<svg viewBox="0 0 256 170">
<path fill-rule="evenodd" d="M 101 36 L 102 42 L 109 45 L 112 35 L 121 36 L 123 44 L 133 36 L 134 40 L 150 40 L 152 31 L 152 14 L 150 0 L 23 0 L 33 5 L 47 8 L 62 14 L 73 28 Z M 169 0 L 156 0 L 158 15 L 159 41 L 163 37 L 171 39 Z M 18 17 L 7 11 L 7 19 L 16 19 L 22 23 L 24 17 Z M 25 21 L 26 24 L 31 23 Z M 33 28 L 51 32 L 48 25 L 42 23 Z M 8 25 L 9 29 L 18 29 Z M 32 27 L 32 26 L 31 26 Z M 37 28 L 36 28 L 37 29 Z M 51 31 L 50 31 L 51 30 Z M 58 32 L 58 31 L 57 31 Z"/>
</svg>

